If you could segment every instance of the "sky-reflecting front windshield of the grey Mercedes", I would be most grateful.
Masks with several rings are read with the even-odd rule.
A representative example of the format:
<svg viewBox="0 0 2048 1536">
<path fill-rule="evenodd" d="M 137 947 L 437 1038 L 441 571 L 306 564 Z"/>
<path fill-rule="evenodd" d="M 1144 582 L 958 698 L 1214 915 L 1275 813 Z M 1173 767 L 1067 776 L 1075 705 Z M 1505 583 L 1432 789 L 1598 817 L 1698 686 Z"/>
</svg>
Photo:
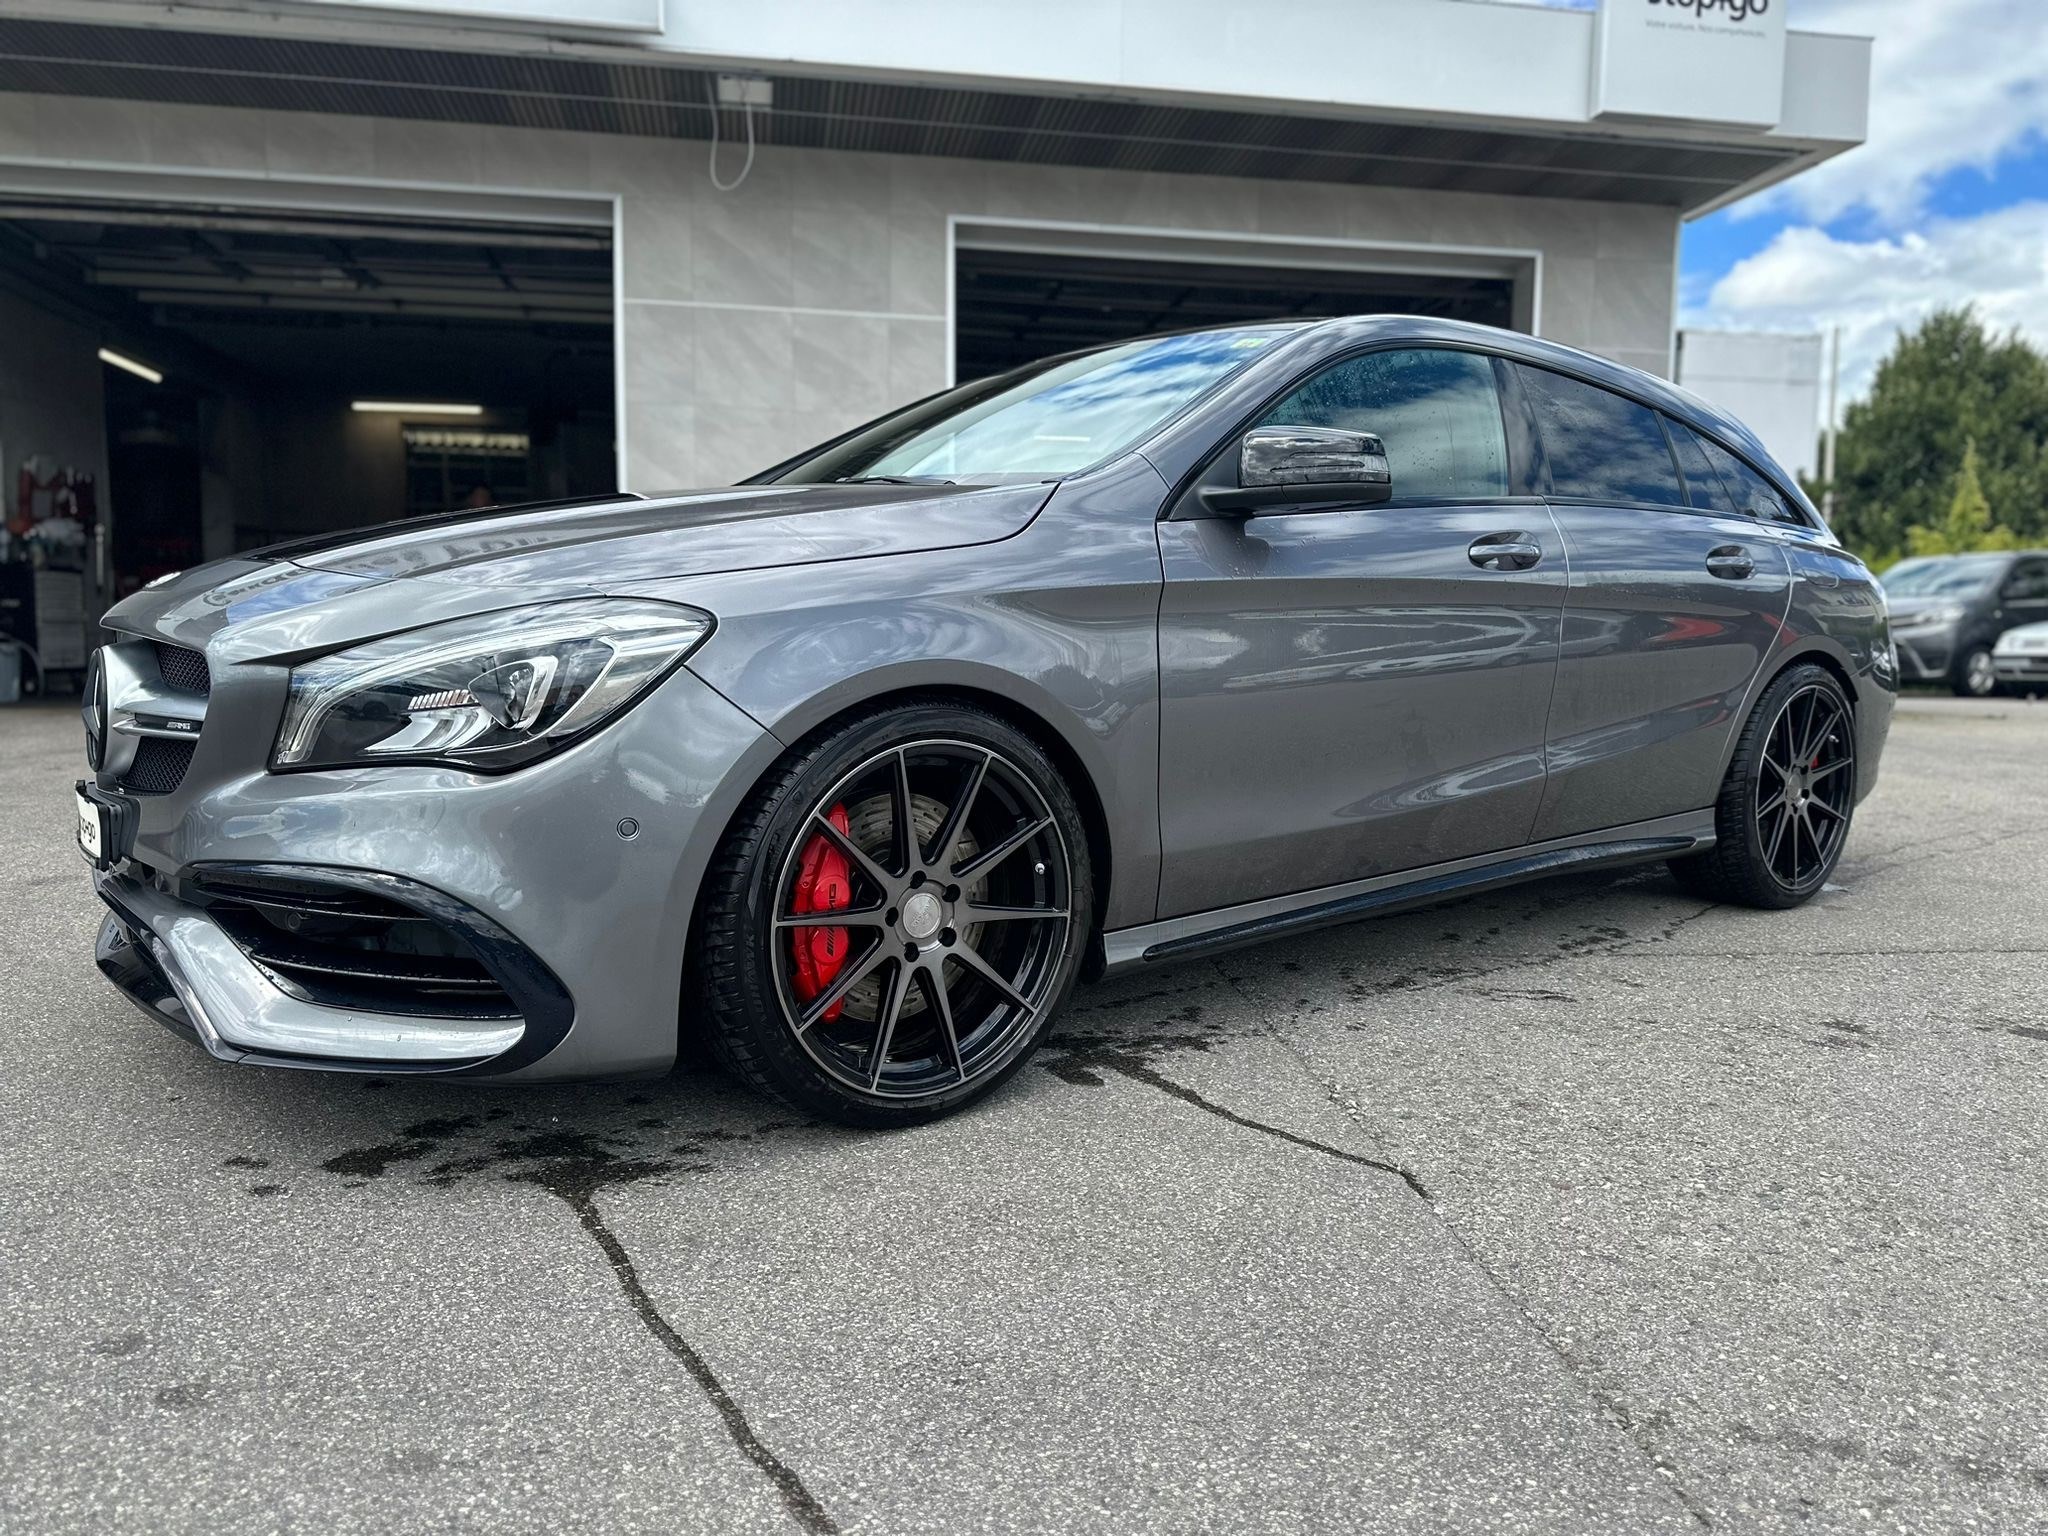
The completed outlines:
<svg viewBox="0 0 2048 1536">
<path fill-rule="evenodd" d="M 782 483 L 1001 483 L 1087 469 L 1143 440 L 1290 326 L 1153 336 L 979 379 L 827 444 Z"/>
</svg>

